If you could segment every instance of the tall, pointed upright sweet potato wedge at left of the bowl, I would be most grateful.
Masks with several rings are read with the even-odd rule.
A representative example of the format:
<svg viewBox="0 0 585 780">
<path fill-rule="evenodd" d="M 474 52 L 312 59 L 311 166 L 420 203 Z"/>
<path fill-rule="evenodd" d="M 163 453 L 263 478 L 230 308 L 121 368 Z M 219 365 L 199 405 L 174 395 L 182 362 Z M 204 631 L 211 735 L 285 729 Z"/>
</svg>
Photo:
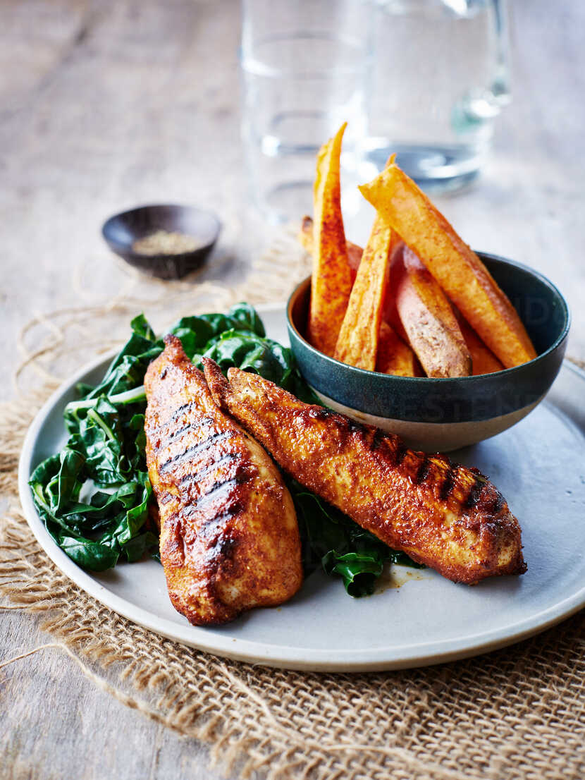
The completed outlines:
<svg viewBox="0 0 585 780">
<path fill-rule="evenodd" d="M 321 147 L 314 186 L 314 254 L 307 335 L 314 347 L 329 356 L 335 352 L 352 289 L 339 184 L 339 155 L 345 129 L 344 124 Z"/>
</svg>

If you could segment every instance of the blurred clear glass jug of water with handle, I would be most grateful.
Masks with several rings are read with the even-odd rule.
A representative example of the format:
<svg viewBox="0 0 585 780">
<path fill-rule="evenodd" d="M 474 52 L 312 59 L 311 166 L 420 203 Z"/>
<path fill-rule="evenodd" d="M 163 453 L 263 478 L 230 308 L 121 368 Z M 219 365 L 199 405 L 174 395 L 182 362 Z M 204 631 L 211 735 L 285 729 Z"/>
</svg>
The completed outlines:
<svg viewBox="0 0 585 780">
<path fill-rule="evenodd" d="M 378 0 L 367 158 L 427 191 L 480 170 L 510 101 L 505 0 Z"/>
</svg>

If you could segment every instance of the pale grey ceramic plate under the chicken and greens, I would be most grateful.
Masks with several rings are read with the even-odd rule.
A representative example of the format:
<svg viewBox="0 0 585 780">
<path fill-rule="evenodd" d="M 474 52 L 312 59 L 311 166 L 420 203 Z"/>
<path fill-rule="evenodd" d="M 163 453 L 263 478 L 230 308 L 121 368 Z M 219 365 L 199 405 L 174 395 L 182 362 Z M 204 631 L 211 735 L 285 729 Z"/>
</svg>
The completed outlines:
<svg viewBox="0 0 585 780">
<path fill-rule="evenodd" d="M 286 342 L 284 306 L 263 311 Z M 495 650 L 542 631 L 585 605 L 585 374 L 565 363 L 548 399 L 497 437 L 453 453 L 502 490 L 523 528 L 521 577 L 455 585 L 428 569 L 393 567 L 379 592 L 354 601 L 320 573 L 281 608 L 258 609 L 220 628 L 195 628 L 174 611 L 161 566 L 84 572 L 54 544 L 30 498 L 34 466 L 64 440 L 62 409 L 76 381 L 97 381 L 108 360 L 80 371 L 44 406 L 20 460 L 30 527 L 67 576 L 109 608 L 172 640 L 229 658 L 297 669 L 409 668 Z M 400 585 L 400 587 L 396 587 Z"/>
</svg>

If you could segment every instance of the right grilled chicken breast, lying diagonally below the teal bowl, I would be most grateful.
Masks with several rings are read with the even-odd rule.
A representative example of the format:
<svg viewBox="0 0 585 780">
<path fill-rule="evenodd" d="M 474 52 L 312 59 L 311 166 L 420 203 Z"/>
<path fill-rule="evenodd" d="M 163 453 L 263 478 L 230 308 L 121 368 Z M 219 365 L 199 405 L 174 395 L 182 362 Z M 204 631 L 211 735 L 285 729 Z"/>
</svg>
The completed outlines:
<svg viewBox="0 0 585 780">
<path fill-rule="evenodd" d="M 300 483 L 391 548 L 454 582 L 526 570 L 520 527 L 477 470 L 406 449 L 378 428 L 300 402 L 271 382 L 204 360 L 223 409 Z"/>
</svg>

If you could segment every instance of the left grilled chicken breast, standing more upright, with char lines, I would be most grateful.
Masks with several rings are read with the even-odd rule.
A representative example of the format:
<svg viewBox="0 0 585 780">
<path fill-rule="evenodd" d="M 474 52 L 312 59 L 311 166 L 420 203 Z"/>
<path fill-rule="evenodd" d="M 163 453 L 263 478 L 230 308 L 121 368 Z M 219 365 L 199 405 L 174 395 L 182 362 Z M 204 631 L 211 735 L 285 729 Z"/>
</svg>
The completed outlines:
<svg viewBox="0 0 585 780">
<path fill-rule="evenodd" d="M 172 605 L 196 626 L 278 605 L 303 573 L 296 513 L 264 449 L 215 405 L 175 336 L 148 368 L 148 475 Z"/>
</svg>

